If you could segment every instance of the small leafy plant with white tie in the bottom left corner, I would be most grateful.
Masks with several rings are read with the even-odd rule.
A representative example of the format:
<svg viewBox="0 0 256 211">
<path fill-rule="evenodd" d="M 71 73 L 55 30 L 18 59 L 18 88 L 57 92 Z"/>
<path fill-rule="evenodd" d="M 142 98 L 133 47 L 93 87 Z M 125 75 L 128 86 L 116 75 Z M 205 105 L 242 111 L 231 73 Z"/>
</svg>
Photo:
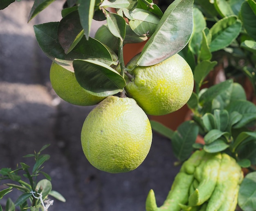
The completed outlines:
<svg viewBox="0 0 256 211">
<path fill-rule="evenodd" d="M 31 211 L 47 211 L 48 207 L 52 205 L 53 200 L 48 199 L 48 195 L 65 202 L 65 198 L 58 193 L 57 191 L 52 190 L 51 177 L 42 171 L 43 164 L 49 160 L 50 156 L 42 154 L 41 152 L 49 146 L 43 146 L 39 152 L 34 152 L 34 154 L 25 155 L 24 157 L 34 157 L 35 164 L 33 166 L 32 172 L 29 172 L 30 166 L 25 163 L 20 163 L 20 166 L 17 166 L 15 170 L 11 168 L 2 168 L 0 169 L 0 180 L 12 180 L 15 183 L 6 183 L 6 186 L 9 186 L 7 189 L 0 191 L 0 199 L 4 195 L 11 192 L 13 188 L 21 191 L 22 194 L 16 199 L 15 202 L 8 198 L 6 203 L 7 211 L 15 211 L 15 207 L 20 207 L 21 211 L 30 209 Z M 20 176 L 19 172 L 25 172 Z M 40 180 L 37 182 L 38 176 L 43 175 L 46 179 Z M 0 205 L 0 211 L 2 207 Z"/>
</svg>

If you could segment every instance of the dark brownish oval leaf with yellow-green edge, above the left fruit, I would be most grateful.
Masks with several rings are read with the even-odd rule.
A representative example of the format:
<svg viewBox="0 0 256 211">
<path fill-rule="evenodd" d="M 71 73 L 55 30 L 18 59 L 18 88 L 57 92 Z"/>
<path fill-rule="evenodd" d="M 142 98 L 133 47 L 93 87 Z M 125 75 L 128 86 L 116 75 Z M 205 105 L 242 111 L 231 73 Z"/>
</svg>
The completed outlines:
<svg viewBox="0 0 256 211">
<path fill-rule="evenodd" d="M 58 25 L 58 41 L 68 54 L 84 36 L 84 30 L 79 21 L 77 10 L 61 19 Z"/>
</svg>

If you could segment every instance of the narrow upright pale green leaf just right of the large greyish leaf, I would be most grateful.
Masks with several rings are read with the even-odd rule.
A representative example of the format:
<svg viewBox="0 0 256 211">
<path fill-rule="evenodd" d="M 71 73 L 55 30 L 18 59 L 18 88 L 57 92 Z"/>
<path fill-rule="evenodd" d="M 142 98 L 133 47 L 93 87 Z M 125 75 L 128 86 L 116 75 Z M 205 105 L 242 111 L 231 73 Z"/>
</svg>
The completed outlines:
<svg viewBox="0 0 256 211">
<path fill-rule="evenodd" d="M 203 13 L 196 7 L 193 8 L 193 33 L 189 40 L 189 48 L 195 55 L 199 55 L 202 43 L 202 31 L 206 27 Z"/>
</svg>

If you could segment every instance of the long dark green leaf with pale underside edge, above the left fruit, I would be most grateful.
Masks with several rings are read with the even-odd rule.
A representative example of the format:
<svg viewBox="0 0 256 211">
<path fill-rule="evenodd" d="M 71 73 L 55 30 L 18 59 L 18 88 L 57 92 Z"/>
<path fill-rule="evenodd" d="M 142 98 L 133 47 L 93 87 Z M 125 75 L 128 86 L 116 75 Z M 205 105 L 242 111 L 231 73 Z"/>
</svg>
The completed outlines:
<svg viewBox="0 0 256 211">
<path fill-rule="evenodd" d="M 58 24 L 58 22 L 49 22 L 34 26 L 36 40 L 40 48 L 52 61 L 71 72 L 74 72 L 73 60 L 77 58 L 98 60 L 108 65 L 113 64 L 112 56 L 108 49 L 98 40 L 93 38 L 86 40 L 85 36 L 69 54 L 65 54 L 58 42 Z"/>
</svg>

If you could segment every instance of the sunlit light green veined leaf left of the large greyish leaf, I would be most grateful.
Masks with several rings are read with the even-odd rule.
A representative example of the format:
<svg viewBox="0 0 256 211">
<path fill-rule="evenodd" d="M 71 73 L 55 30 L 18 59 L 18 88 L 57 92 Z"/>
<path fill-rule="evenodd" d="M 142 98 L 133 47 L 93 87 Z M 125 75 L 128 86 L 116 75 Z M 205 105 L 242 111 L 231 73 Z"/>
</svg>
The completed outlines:
<svg viewBox="0 0 256 211">
<path fill-rule="evenodd" d="M 154 13 L 146 11 L 144 9 L 134 9 L 128 12 L 131 18 L 131 20 L 129 21 L 131 29 L 139 36 L 145 34 L 148 36 L 152 36 L 152 34 L 155 32 L 160 18 Z"/>
</svg>

